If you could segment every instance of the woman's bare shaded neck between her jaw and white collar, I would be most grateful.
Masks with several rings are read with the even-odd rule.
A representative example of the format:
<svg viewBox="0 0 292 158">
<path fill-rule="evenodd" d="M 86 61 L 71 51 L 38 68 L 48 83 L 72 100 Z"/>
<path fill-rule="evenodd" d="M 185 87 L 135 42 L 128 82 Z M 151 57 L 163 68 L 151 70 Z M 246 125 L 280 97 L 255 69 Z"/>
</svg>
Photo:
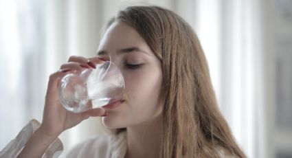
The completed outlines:
<svg viewBox="0 0 292 158">
<path fill-rule="evenodd" d="M 161 115 L 144 124 L 128 127 L 126 157 L 159 157 L 162 128 Z"/>
</svg>

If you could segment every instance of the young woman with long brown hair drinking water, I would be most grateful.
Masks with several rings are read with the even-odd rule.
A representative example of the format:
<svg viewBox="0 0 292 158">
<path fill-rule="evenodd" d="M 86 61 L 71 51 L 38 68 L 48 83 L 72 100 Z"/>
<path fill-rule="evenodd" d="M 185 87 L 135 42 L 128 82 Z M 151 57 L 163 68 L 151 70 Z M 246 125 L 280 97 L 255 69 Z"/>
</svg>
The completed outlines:
<svg viewBox="0 0 292 158">
<path fill-rule="evenodd" d="M 126 84 L 122 98 L 114 108 L 66 111 L 58 100 L 60 78 L 94 69 L 101 60 L 121 69 Z M 15 155 L 58 156 L 58 135 L 93 116 L 102 116 L 115 135 L 91 137 L 68 157 L 245 157 L 218 109 L 196 34 L 177 14 L 156 6 L 120 11 L 109 23 L 97 57 L 71 56 L 50 76 L 43 122 Z"/>
</svg>

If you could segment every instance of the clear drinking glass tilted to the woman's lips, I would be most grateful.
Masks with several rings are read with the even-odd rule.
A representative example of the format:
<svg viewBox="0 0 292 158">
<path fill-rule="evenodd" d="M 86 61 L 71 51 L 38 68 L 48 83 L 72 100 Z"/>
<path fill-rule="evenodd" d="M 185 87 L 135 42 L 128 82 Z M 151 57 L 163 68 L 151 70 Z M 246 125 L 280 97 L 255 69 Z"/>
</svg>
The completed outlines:
<svg viewBox="0 0 292 158">
<path fill-rule="evenodd" d="M 109 104 L 122 97 L 124 78 L 120 69 L 110 61 L 67 74 L 60 81 L 59 97 L 65 109 L 81 113 Z"/>
</svg>

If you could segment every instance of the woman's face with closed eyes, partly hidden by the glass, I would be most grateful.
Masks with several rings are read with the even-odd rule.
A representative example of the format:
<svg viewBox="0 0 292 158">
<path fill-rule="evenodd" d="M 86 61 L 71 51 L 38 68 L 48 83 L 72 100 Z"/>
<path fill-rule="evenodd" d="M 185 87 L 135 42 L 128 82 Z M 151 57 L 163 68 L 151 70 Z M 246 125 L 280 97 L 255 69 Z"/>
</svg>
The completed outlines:
<svg viewBox="0 0 292 158">
<path fill-rule="evenodd" d="M 113 23 L 100 41 L 98 56 L 120 68 L 126 85 L 124 101 L 114 109 L 106 109 L 108 115 L 102 119 L 105 126 L 126 128 L 161 115 L 161 63 L 133 27 Z"/>
</svg>

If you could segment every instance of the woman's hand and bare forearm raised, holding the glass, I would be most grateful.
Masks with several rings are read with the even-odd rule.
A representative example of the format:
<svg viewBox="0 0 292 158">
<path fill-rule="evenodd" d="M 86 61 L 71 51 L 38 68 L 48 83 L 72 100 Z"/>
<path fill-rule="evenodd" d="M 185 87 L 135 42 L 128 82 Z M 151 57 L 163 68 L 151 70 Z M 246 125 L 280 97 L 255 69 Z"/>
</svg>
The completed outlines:
<svg viewBox="0 0 292 158">
<path fill-rule="evenodd" d="M 62 106 L 58 95 L 60 80 L 65 75 L 74 71 L 94 69 L 96 64 L 101 63 L 101 60 L 103 59 L 97 57 L 87 59 L 80 56 L 71 56 L 68 63 L 62 65 L 59 71 L 56 71 L 49 77 L 47 94 L 45 96 L 43 122 L 36 129 L 32 137 L 30 137 L 18 157 L 41 157 L 49 144 L 52 144 L 54 139 L 67 128 L 76 126 L 88 117 L 106 114 L 102 108 L 91 109 L 83 113 L 71 113 Z"/>
</svg>

